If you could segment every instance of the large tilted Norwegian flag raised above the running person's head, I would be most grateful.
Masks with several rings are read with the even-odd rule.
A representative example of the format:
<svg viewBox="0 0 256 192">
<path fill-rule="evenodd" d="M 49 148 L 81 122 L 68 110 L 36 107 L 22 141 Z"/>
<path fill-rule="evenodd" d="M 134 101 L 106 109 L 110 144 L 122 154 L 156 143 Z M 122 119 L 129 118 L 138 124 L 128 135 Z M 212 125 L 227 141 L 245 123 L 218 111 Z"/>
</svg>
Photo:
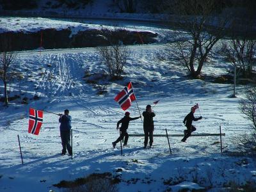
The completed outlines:
<svg viewBox="0 0 256 192">
<path fill-rule="evenodd" d="M 136 97 L 134 95 L 134 92 L 132 90 L 132 83 L 128 83 L 125 88 L 116 95 L 115 101 L 118 102 L 121 106 L 121 108 L 125 111 L 128 109 L 132 101 L 136 100 Z"/>
</svg>

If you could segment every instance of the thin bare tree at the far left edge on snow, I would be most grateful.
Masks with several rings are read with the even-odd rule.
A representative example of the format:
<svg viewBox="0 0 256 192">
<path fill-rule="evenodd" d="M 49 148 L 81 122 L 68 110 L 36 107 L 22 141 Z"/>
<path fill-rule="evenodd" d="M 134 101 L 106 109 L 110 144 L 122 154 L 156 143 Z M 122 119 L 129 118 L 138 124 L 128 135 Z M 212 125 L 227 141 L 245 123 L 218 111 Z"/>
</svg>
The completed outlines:
<svg viewBox="0 0 256 192">
<path fill-rule="evenodd" d="M 12 67 L 17 54 L 10 49 L 10 38 L 3 36 L 0 40 L 0 79 L 4 83 L 4 104 L 8 105 L 8 92 L 7 84 L 8 81 L 12 80 L 13 71 L 15 68 Z"/>
</svg>

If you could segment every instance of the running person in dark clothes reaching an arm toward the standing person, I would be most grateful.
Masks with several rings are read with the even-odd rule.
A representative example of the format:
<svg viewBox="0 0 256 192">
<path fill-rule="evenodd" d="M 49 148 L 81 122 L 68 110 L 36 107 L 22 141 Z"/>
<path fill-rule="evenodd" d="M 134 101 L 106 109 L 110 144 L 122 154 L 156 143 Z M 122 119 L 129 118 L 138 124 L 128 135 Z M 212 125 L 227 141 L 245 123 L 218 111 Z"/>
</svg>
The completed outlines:
<svg viewBox="0 0 256 192">
<path fill-rule="evenodd" d="M 125 116 L 117 122 L 116 129 L 119 129 L 119 125 L 122 124 L 121 127 L 120 127 L 121 134 L 120 134 L 119 138 L 116 141 L 112 142 L 113 148 L 116 147 L 116 143 L 123 140 L 124 138 L 125 139 L 124 139 L 124 145 L 123 146 L 124 147 L 127 146 L 127 141 L 128 141 L 128 138 L 129 138 L 129 135 L 127 133 L 127 129 L 128 129 L 128 126 L 129 126 L 129 122 L 132 121 L 132 120 L 136 120 L 140 117 L 141 116 L 131 118 L 130 113 L 128 111 L 125 112 Z"/>
</svg>

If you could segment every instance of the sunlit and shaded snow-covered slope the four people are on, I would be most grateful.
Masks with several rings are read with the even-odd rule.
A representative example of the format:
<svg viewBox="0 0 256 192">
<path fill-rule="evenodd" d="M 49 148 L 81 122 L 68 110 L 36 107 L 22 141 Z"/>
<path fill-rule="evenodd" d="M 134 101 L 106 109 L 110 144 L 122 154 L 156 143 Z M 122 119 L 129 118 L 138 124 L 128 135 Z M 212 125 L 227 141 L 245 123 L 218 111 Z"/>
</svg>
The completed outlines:
<svg viewBox="0 0 256 192">
<path fill-rule="evenodd" d="M 106 67 L 96 49 L 68 49 L 20 52 L 17 62 L 25 76 L 12 86 L 12 92 L 28 97 L 28 105 L 14 100 L 8 108 L 0 107 L 0 191 L 61 191 L 52 184 L 74 180 L 91 173 L 110 172 L 119 175 L 120 191 L 179 191 L 181 188 L 209 188 L 220 191 L 228 182 L 244 184 L 256 176 L 255 161 L 250 157 L 220 154 L 218 136 L 191 137 L 186 143 L 180 137 L 170 137 L 172 154 L 166 138 L 154 138 L 153 148 L 143 149 L 143 138 L 130 137 L 128 146 L 112 148 L 118 138 L 116 122 L 124 111 L 113 99 L 132 81 L 140 111 L 156 100 L 154 134 L 182 134 L 184 116 L 196 103 L 194 122 L 198 133 L 218 133 L 220 125 L 223 150 L 235 149 L 234 137 L 249 132 L 249 123 L 238 110 L 243 87 L 232 95 L 232 84 L 214 84 L 186 77 L 186 71 L 163 60 L 168 53 L 163 45 L 129 46 L 131 56 L 125 65 L 122 81 L 108 81 L 102 76 Z M 162 58 L 162 60 L 160 60 Z M 228 64 L 218 58 L 211 61 L 203 73 L 224 74 Z M 49 65 L 50 64 L 50 65 Z M 47 67 L 47 65 L 49 67 Z M 84 79 L 84 74 L 90 77 Z M 86 81 L 96 81 L 89 84 Z M 20 86 L 19 86 L 20 84 Z M 3 83 L 0 84 L 1 90 Z M 107 91 L 98 95 L 99 91 Z M 1 91 L 2 92 L 2 91 Z M 40 100 L 33 100 L 33 95 Z M 60 156 L 61 141 L 58 116 L 44 113 L 40 134 L 28 133 L 29 107 L 54 113 L 70 110 L 73 129 L 74 159 Z M 133 102 L 131 116 L 139 116 Z M 140 119 L 130 122 L 129 134 L 142 134 Z M 24 164 L 19 154 L 20 137 Z M 193 183 L 193 182 L 196 182 Z M 178 184 L 178 185 L 175 185 Z M 210 191 L 210 190 L 209 190 Z M 211 190 L 213 191 L 213 189 Z"/>
</svg>

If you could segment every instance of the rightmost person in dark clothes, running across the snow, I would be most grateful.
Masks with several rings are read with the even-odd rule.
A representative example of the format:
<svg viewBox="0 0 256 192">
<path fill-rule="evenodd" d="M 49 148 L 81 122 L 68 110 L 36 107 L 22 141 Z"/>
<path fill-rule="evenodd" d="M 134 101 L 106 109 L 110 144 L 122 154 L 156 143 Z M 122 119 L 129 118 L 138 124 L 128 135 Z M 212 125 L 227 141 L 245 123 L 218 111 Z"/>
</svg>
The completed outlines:
<svg viewBox="0 0 256 192">
<path fill-rule="evenodd" d="M 191 136 L 191 132 L 196 131 L 196 127 L 192 125 L 192 122 L 202 119 L 202 116 L 195 118 L 194 113 L 195 108 L 192 107 L 190 113 L 185 116 L 183 120 L 183 124 L 186 125 L 187 130 L 184 130 L 184 138 L 181 140 L 182 142 L 186 142 L 189 136 Z"/>
</svg>

